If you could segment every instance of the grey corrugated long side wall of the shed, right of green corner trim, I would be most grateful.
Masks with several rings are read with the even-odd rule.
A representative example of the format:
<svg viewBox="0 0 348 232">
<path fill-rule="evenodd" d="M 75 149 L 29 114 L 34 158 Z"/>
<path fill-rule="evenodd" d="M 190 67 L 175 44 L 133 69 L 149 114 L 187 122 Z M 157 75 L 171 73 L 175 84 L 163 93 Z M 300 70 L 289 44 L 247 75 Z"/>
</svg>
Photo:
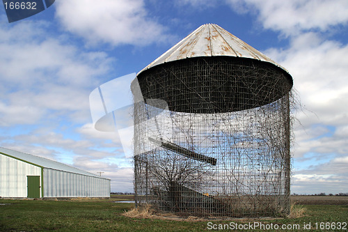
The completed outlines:
<svg viewBox="0 0 348 232">
<path fill-rule="evenodd" d="M 109 197 L 110 180 L 44 169 L 44 197 Z"/>
</svg>

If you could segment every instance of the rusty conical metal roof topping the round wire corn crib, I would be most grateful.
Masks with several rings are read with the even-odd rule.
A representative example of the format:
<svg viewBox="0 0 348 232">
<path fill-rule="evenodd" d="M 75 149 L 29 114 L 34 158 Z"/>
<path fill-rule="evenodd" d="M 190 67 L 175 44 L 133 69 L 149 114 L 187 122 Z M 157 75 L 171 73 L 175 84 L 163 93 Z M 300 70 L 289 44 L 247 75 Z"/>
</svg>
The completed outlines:
<svg viewBox="0 0 348 232">
<path fill-rule="evenodd" d="M 216 24 L 204 24 L 198 27 L 189 36 L 178 42 L 140 72 L 161 63 L 198 56 L 234 56 L 257 59 L 273 63 L 287 72 L 278 63 Z"/>
</svg>

